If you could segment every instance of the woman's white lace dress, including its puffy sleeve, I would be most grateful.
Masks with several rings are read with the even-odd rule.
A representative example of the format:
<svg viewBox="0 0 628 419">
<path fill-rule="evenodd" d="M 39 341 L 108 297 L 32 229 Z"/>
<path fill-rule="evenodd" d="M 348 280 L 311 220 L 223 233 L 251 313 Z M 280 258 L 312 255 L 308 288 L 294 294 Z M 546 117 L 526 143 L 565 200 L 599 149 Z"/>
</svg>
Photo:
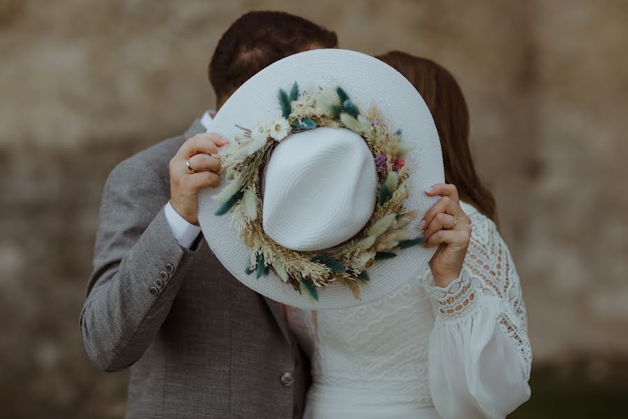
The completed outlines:
<svg viewBox="0 0 628 419">
<path fill-rule="evenodd" d="M 359 307 L 287 318 L 310 357 L 305 419 L 504 418 L 530 398 L 532 351 L 509 250 L 468 204 L 461 276 L 431 272 Z"/>
</svg>

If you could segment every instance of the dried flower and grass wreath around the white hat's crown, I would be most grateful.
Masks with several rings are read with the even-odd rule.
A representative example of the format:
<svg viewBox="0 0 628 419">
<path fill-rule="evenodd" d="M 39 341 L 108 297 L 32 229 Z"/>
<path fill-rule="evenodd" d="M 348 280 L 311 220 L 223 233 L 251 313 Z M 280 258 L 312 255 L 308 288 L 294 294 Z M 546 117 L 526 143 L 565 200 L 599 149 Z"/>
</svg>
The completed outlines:
<svg viewBox="0 0 628 419">
<path fill-rule="evenodd" d="M 222 205 L 216 215 L 232 212 L 246 246 L 251 249 L 247 274 L 257 278 L 273 269 L 286 284 L 301 293 L 304 289 L 318 300 L 317 288 L 334 281 L 341 283 L 360 298 L 360 286 L 368 282 L 367 269 L 377 261 L 394 258 L 398 249 L 423 242 L 404 228 L 416 212 L 403 207 L 408 198 L 408 167 L 403 156 L 412 147 L 401 140 L 401 131 L 391 131 L 382 122 L 375 106 L 364 115 L 337 87 L 308 87 L 299 92 L 295 82 L 286 92 L 279 90 L 282 115 L 253 129 L 238 126 L 244 135 L 229 152 L 220 156 L 227 184 L 214 196 Z M 291 133 L 320 126 L 348 128 L 361 135 L 373 153 L 377 169 L 377 204 L 366 226 L 346 245 L 327 251 L 294 251 L 281 247 L 262 228 L 262 166 L 276 143 Z"/>
</svg>

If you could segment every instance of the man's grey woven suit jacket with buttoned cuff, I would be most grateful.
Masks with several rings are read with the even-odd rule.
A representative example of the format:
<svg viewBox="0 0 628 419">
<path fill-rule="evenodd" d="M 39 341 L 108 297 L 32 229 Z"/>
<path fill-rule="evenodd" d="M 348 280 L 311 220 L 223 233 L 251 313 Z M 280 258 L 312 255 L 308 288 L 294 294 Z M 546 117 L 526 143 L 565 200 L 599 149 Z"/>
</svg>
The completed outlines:
<svg viewBox="0 0 628 419">
<path fill-rule="evenodd" d="M 163 212 L 184 134 L 119 163 L 103 192 L 80 316 L 89 358 L 131 368 L 126 418 L 300 418 L 309 366 L 278 303 L 225 270 Z M 237 240 L 234 237 L 234 240 Z"/>
</svg>

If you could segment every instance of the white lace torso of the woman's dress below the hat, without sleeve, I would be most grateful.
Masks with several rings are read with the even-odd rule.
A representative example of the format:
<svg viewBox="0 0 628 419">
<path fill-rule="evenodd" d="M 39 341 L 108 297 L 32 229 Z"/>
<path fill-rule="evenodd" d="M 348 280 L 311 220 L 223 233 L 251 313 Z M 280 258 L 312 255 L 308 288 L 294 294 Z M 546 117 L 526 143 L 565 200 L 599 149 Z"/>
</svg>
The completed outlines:
<svg viewBox="0 0 628 419">
<path fill-rule="evenodd" d="M 382 400 L 433 406 L 428 381 L 428 341 L 434 323 L 430 295 L 412 281 L 350 309 L 311 311 L 288 307 L 288 320 L 312 366 L 314 402 L 351 404 Z M 375 397 L 364 397 L 365 394 Z M 340 396 L 342 395 L 342 396 Z"/>
</svg>

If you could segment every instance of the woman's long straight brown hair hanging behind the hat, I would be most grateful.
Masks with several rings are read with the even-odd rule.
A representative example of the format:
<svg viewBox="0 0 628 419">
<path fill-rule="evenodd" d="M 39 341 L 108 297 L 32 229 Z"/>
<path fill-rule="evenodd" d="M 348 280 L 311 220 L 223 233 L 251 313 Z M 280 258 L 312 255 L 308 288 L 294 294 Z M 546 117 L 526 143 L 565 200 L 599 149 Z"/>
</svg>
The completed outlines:
<svg viewBox="0 0 628 419">
<path fill-rule="evenodd" d="M 434 118 L 444 162 L 445 182 L 456 185 L 461 200 L 496 220 L 495 198 L 480 182 L 469 149 L 469 111 L 458 82 L 431 59 L 391 51 L 376 57 L 407 78 L 423 96 Z"/>
</svg>

